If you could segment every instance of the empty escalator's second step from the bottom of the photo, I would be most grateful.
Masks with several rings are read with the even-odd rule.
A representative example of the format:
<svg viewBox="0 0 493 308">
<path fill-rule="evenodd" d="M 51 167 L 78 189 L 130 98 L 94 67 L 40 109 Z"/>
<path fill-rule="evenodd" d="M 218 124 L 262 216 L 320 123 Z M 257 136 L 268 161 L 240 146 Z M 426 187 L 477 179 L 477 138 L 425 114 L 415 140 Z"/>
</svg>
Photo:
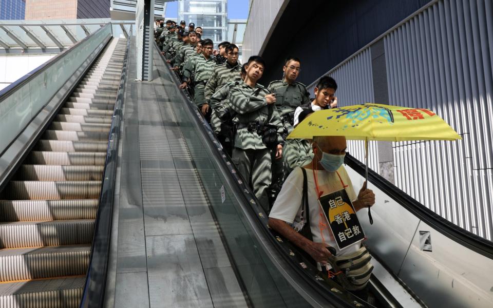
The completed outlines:
<svg viewBox="0 0 493 308">
<path fill-rule="evenodd" d="M 85 275 L 90 244 L 0 249 L 0 282 Z"/>
</svg>

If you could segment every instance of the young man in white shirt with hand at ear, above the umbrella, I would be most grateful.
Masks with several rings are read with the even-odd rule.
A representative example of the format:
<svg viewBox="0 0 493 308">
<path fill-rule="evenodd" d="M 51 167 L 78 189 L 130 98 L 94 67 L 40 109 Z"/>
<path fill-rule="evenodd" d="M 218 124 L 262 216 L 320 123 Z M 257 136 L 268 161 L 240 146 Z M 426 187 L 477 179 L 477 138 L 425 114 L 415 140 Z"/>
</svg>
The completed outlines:
<svg viewBox="0 0 493 308">
<path fill-rule="evenodd" d="M 337 98 L 335 97 L 335 91 L 337 91 L 337 83 L 330 76 L 324 76 L 318 80 L 315 87 L 315 99 L 307 106 L 301 105 L 294 110 L 294 123 L 293 126 L 298 124 L 298 117 L 301 111 L 312 108 L 313 111 L 322 109 L 337 108 Z"/>
</svg>

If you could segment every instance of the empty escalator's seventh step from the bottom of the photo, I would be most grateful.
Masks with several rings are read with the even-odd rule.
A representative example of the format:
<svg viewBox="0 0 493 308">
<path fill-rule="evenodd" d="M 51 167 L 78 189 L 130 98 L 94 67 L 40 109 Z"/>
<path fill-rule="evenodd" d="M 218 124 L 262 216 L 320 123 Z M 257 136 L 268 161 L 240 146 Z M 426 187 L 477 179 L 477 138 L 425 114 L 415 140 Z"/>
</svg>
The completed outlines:
<svg viewBox="0 0 493 308">
<path fill-rule="evenodd" d="M 103 166 L 105 160 L 105 152 L 32 151 L 24 163 L 32 165 Z"/>
</svg>

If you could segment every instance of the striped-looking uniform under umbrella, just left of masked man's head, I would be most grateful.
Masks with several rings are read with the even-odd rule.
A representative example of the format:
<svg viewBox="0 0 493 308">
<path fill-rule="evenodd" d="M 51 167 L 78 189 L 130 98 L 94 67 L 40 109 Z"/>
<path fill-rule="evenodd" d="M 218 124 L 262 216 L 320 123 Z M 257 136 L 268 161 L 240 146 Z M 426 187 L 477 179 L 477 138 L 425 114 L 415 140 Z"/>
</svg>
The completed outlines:
<svg viewBox="0 0 493 308">
<path fill-rule="evenodd" d="M 305 166 L 312 159 L 312 143 L 309 140 L 287 139 L 282 148 L 285 177 L 288 177 L 295 167 Z"/>
</svg>

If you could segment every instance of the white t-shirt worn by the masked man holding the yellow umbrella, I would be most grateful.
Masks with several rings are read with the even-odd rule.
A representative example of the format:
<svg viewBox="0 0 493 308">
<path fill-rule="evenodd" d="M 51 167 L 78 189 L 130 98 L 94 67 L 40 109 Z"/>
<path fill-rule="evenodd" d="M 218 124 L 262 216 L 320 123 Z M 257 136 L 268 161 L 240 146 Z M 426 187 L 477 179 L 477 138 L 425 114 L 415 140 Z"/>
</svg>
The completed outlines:
<svg viewBox="0 0 493 308">
<path fill-rule="evenodd" d="M 307 180 L 308 180 L 308 206 L 310 212 L 310 228 L 312 230 L 313 241 L 316 243 L 324 242 L 320 235 L 319 217 L 320 217 L 320 206 L 317 198 L 317 192 L 315 188 L 315 181 L 313 179 L 313 170 L 306 169 Z M 319 190 L 323 191 L 323 195 L 331 194 L 334 191 L 343 189 L 343 184 L 340 179 L 344 182 L 346 187 L 346 192 L 351 201 L 356 200 L 357 196 L 354 192 L 353 185 L 349 176 L 346 172 L 344 166 L 340 166 L 337 170 L 340 175 L 340 179 L 336 172 L 328 172 L 325 170 L 315 170 L 317 172 Z M 301 198 L 303 195 L 303 173 L 301 168 L 294 168 L 289 174 L 288 178 L 282 185 L 281 191 L 274 202 L 274 206 L 271 209 L 269 217 L 280 219 L 287 223 L 293 224 L 293 226 L 301 229 Z M 324 217 L 325 219 L 325 217 Z M 327 224 L 327 220 L 324 221 Z M 360 245 L 359 242 L 350 245 L 343 249 L 342 253 L 337 248 L 337 243 L 335 239 L 331 237 L 332 232 L 330 228 L 326 228 L 323 231 L 325 243 L 334 247 L 336 249 L 337 255 L 349 255 L 356 252 Z"/>
</svg>

